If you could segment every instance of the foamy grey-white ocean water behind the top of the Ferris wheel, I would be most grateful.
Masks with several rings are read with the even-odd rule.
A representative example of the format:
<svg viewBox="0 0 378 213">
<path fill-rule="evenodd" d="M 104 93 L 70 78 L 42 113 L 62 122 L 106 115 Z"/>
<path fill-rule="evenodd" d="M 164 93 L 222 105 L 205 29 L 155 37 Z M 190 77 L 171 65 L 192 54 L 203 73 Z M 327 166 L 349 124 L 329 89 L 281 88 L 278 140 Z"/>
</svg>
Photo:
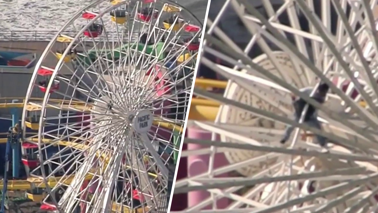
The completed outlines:
<svg viewBox="0 0 378 213">
<path fill-rule="evenodd" d="M 9 31 L 57 31 L 91 0 L 0 0 L 0 37 Z M 107 1 L 105 1 L 107 3 Z M 207 0 L 177 0 L 203 22 Z"/>
</svg>

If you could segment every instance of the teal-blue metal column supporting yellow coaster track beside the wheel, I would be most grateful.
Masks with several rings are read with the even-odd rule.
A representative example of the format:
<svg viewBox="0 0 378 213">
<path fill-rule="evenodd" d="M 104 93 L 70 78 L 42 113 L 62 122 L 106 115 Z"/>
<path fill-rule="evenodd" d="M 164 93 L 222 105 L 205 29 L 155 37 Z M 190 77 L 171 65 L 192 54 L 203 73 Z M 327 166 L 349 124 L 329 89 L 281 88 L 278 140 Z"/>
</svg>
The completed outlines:
<svg viewBox="0 0 378 213">
<path fill-rule="evenodd" d="M 12 103 L 17 103 L 19 100 L 14 99 Z M 11 109 L 12 114 L 12 127 L 19 123 L 19 110 L 17 108 Z M 20 127 L 19 127 L 20 128 Z M 16 140 L 12 143 L 12 165 L 13 165 L 13 177 L 20 178 L 20 140 Z"/>
</svg>

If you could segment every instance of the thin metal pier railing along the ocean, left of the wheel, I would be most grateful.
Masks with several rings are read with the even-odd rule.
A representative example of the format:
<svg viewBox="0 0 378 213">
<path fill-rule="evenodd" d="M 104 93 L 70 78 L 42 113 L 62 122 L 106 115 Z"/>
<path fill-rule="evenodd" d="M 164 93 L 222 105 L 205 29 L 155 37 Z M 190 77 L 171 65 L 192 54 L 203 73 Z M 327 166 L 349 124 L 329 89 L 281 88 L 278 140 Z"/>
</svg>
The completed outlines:
<svg viewBox="0 0 378 213">
<path fill-rule="evenodd" d="M 0 41 L 50 41 L 57 30 L 51 31 L 30 31 L 30 30 L 8 30 L 0 31 Z M 64 31 L 62 34 L 75 35 L 73 31 Z"/>
</svg>

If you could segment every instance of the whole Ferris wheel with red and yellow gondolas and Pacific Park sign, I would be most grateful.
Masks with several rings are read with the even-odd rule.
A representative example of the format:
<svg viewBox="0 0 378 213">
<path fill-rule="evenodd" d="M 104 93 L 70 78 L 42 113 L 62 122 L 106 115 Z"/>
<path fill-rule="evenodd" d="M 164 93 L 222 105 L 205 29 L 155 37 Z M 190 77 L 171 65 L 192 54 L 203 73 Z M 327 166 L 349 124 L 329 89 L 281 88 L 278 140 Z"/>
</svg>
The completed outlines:
<svg viewBox="0 0 378 213">
<path fill-rule="evenodd" d="M 44 210 L 167 208 L 201 31 L 175 2 L 96 0 L 57 32 L 22 120 Z"/>
</svg>

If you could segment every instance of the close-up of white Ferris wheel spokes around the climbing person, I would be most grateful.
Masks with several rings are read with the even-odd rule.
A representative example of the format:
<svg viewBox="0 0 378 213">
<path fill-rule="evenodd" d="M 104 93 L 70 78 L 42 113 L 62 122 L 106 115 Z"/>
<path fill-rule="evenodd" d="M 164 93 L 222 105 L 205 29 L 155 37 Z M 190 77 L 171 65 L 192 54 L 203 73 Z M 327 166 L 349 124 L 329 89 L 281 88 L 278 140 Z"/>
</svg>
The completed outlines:
<svg viewBox="0 0 378 213">
<path fill-rule="evenodd" d="M 228 79 L 227 88 L 223 96 L 194 88 L 194 95 L 223 104 L 215 122 L 192 122 L 213 141 L 184 139 L 202 145 L 197 152 L 208 155 L 208 168 L 177 180 L 174 190 L 205 195 L 180 212 L 376 212 L 378 2 L 224 2 L 207 22 L 201 63 Z M 225 26 L 232 16 L 244 41 Z M 320 82 L 332 91 L 323 105 L 299 92 Z M 294 120 L 292 95 L 319 109 L 322 130 Z M 282 145 L 289 125 L 296 131 Z M 215 167 L 220 154 L 226 164 Z M 196 152 L 181 156 L 190 168 Z"/>
</svg>

